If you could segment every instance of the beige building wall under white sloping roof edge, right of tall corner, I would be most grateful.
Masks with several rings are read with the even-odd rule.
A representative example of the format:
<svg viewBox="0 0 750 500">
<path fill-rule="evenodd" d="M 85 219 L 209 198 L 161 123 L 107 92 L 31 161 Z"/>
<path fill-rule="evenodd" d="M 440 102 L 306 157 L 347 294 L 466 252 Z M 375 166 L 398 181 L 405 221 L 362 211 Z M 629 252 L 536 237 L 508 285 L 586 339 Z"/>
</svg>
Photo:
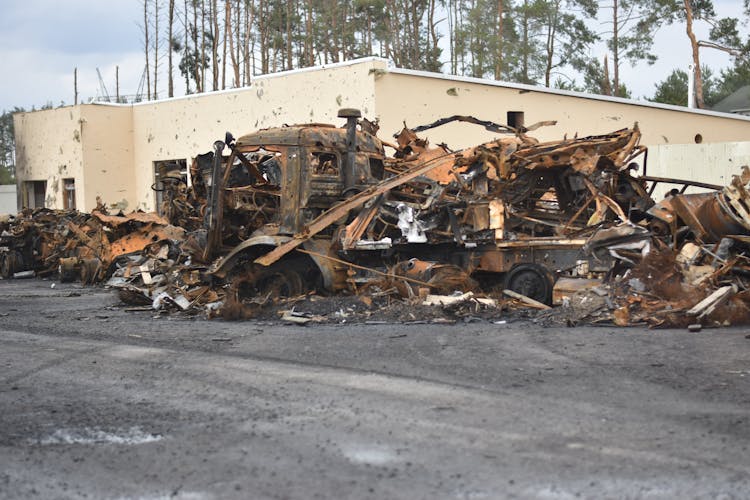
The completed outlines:
<svg viewBox="0 0 750 500">
<path fill-rule="evenodd" d="M 375 91 L 377 117 L 388 134 L 399 130 L 403 120 L 414 127 L 458 114 L 505 123 L 514 118 L 509 112 L 522 112 L 527 127 L 544 120 L 557 121 L 556 126 L 534 131 L 542 141 L 558 140 L 566 134 L 569 138 L 603 134 L 635 122 L 643 133 L 641 144 L 649 147 L 750 137 L 750 117 L 746 116 L 421 71 L 390 69 L 380 73 Z M 463 148 L 490 140 L 493 134 L 480 127 L 454 124 L 424 136 L 432 144 L 445 142 L 451 148 Z M 671 176 L 678 177 L 679 172 Z"/>
</svg>

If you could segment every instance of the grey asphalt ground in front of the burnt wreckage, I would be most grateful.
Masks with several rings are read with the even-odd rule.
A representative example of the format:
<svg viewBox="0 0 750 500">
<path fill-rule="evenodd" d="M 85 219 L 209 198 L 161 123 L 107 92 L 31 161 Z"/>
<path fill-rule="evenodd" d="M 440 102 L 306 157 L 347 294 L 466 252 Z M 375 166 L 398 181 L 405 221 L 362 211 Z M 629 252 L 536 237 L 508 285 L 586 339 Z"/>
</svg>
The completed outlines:
<svg viewBox="0 0 750 500">
<path fill-rule="evenodd" d="M 1 498 L 747 498 L 750 332 L 317 325 L 0 281 Z"/>
</svg>

